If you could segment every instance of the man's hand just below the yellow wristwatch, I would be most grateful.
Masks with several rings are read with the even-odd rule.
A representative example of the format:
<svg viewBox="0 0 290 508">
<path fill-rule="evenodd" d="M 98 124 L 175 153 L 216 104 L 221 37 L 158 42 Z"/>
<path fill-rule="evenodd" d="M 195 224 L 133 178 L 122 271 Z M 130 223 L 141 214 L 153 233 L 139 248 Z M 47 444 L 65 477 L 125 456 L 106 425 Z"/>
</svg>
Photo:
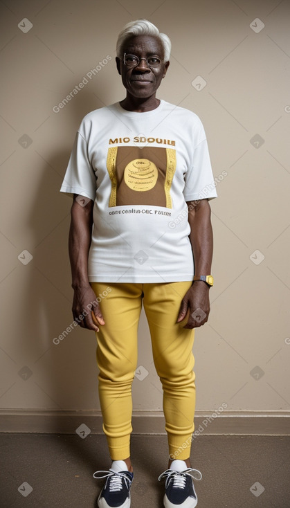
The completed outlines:
<svg viewBox="0 0 290 508">
<path fill-rule="evenodd" d="M 209 290 L 206 282 L 194 281 L 181 301 L 176 323 L 182 321 L 188 313 L 188 323 L 183 328 L 192 329 L 204 325 L 210 314 Z"/>
</svg>

